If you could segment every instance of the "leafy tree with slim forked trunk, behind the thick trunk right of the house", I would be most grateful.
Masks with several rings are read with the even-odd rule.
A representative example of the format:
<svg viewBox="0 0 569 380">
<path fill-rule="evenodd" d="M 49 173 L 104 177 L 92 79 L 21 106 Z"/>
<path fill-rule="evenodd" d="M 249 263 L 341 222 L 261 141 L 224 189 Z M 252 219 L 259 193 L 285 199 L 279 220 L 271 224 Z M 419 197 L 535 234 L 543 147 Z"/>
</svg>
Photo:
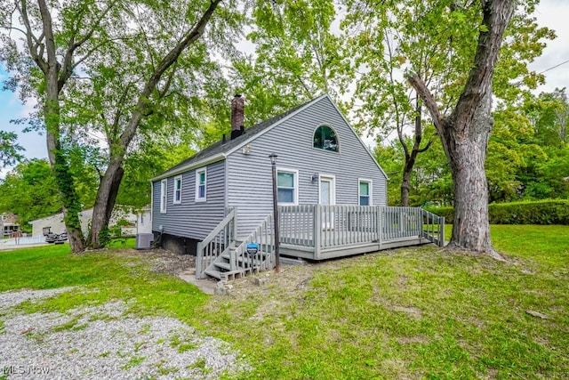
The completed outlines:
<svg viewBox="0 0 569 380">
<path fill-rule="evenodd" d="M 413 189 L 413 166 L 436 137 L 424 133 L 431 122 L 404 70 L 434 89 L 440 109 L 451 109 L 476 52 L 472 42 L 480 26 L 480 7 L 474 6 L 477 2 L 455 0 L 347 0 L 347 4 L 344 25 L 360 70 L 354 98 L 358 125 L 379 132 L 384 144 L 397 137 L 403 148 L 399 178 L 400 203 L 405 206 Z M 530 13 L 520 9 L 514 14 L 507 31 L 510 37 L 501 46 L 493 87 L 503 100 L 516 101 L 520 92 L 542 80 L 527 64 L 541 54 L 541 39 L 553 35 L 539 27 Z"/>
</svg>

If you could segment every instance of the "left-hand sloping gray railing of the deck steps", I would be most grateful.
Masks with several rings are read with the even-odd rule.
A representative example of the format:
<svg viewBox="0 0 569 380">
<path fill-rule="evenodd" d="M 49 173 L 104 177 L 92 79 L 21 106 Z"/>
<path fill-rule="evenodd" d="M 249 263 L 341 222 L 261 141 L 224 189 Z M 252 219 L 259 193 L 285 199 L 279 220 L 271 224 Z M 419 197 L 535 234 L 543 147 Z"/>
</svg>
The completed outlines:
<svg viewBox="0 0 569 380">
<path fill-rule="evenodd" d="M 203 241 L 197 243 L 196 279 L 207 277 L 204 271 L 218 256 L 228 252 L 231 244 L 235 242 L 236 235 L 236 211 L 235 208 L 231 208 L 217 227 Z"/>
</svg>

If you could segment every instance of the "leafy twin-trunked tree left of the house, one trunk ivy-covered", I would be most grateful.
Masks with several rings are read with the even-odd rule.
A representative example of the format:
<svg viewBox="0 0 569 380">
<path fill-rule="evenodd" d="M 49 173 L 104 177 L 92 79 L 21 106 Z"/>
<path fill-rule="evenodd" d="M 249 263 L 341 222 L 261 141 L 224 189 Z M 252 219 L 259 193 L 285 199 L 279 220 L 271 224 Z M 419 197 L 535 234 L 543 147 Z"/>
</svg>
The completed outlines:
<svg viewBox="0 0 569 380">
<path fill-rule="evenodd" d="M 41 105 L 50 162 L 65 214 L 69 241 L 74 252 L 84 249 L 84 237 L 77 213 L 81 208 L 63 136 L 72 134 L 75 123 L 68 104 L 77 102 L 67 93 L 70 83 L 92 81 L 92 89 L 116 94 L 114 101 L 99 104 L 108 154 L 100 168 L 100 185 L 94 204 L 92 230 L 87 242 L 100 247 L 108 219 L 124 175 L 124 157 L 139 126 L 171 95 L 180 57 L 199 61 L 204 48 L 198 46 L 206 26 L 218 9 L 220 0 L 198 2 L 146 2 L 113 0 L 75 3 L 45 0 L 3 0 L 0 2 L 0 28 L 4 47 L 0 58 L 15 73 L 12 83 L 20 81 L 22 96 L 35 95 Z M 228 2 L 223 15 L 230 14 Z M 223 40 L 223 28 L 215 25 L 212 33 Z M 12 36 L 20 33 L 25 48 Z M 190 51 L 190 47 L 196 48 Z M 184 55 L 184 53 L 187 53 Z M 30 65 L 29 62 L 33 62 Z M 194 62 L 195 63 L 195 62 Z M 129 69 L 131 69 L 129 71 Z M 128 71 L 127 74 L 124 74 Z M 116 79 L 105 83 L 100 78 Z M 190 81 L 191 77 L 185 80 Z M 105 88 L 106 86 L 106 88 Z M 75 86 L 77 88 L 77 86 Z M 74 92 L 78 93 L 77 91 Z M 91 94 L 84 92 L 84 102 Z M 92 93 L 95 99 L 108 100 Z M 103 121 L 104 120 L 104 121 Z"/>
</svg>

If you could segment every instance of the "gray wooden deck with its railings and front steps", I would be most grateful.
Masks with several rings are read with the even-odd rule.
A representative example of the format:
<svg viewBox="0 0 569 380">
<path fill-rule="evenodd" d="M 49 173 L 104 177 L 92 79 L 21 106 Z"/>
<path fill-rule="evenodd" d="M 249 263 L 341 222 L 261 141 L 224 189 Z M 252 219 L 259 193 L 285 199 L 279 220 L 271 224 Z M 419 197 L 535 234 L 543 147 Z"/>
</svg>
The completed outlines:
<svg viewBox="0 0 569 380">
<path fill-rule="evenodd" d="M 419 207 L 279 206 L 280 255 L 309 260 L 376 252 L 382 249 L 434 243 L 443 247 L 445 218 Z M 259 244 L 248 255 L 247 244 Z M 236 238 L 236 212 L 198 243 L 196 277 L 231 279 L 275 267 L 272 214 L 248 237 Z"/>
</svg>

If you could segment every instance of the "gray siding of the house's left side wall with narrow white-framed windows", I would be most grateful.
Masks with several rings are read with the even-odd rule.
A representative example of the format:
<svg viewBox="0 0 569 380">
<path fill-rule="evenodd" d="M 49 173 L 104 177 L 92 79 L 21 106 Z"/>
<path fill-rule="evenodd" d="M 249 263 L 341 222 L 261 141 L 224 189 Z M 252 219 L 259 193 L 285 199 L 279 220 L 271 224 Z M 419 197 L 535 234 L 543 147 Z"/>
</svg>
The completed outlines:
<svg viewBox="0 0 569 380">
<path fill-rule="evenodd" d="M 173 204 L 174 178 L 167 178 L 166 213 L 160 213 L 160 183 L 152 183 L 152 230 L 164 226 L 164 233 L 191 239 L 204 239 L 225 216 L 225 161 L 208 165 L 206 201 L 196 202 L 196 170 L 181 174 L 181 203 Z M 200 169 L 200 168 L 198 168 Z"/>
</svg>

